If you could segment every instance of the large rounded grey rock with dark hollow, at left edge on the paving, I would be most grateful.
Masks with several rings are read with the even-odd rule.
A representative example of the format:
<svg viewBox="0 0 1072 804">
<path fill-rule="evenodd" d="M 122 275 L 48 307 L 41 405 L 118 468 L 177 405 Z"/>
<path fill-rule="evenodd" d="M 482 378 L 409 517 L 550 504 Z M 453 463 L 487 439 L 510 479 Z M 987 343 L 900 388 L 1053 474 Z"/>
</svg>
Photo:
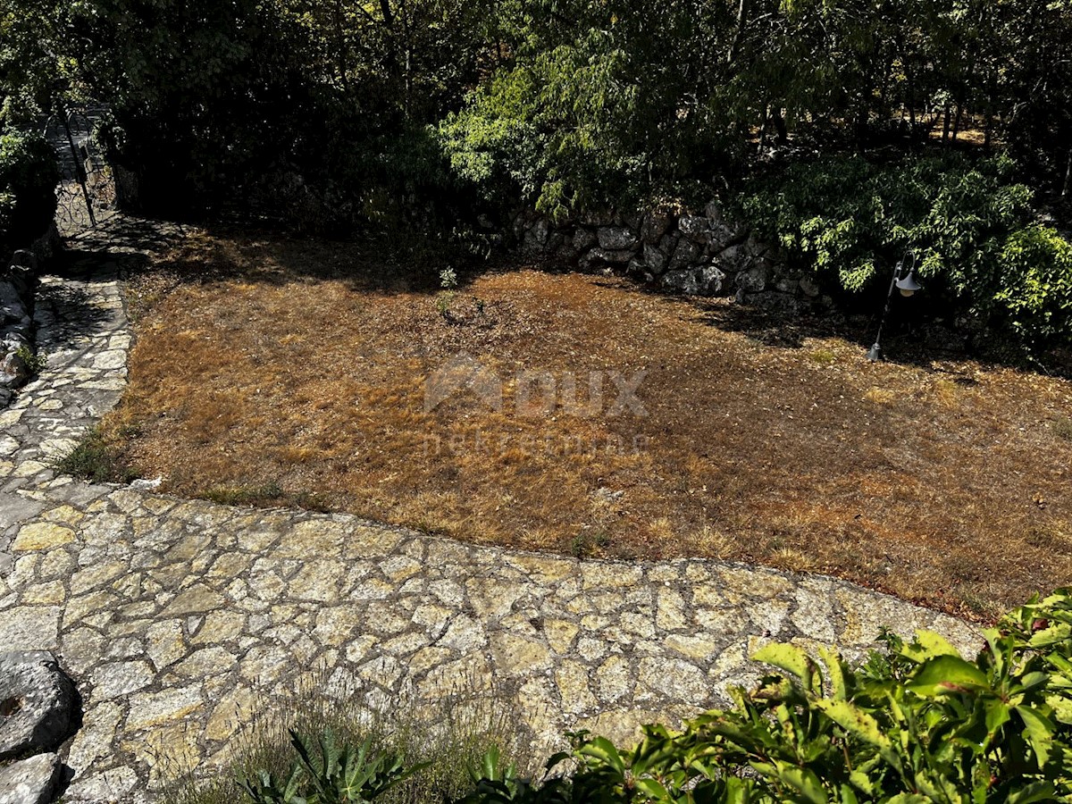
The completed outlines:
<svg viewBox="0 0 1072 804">
<path fill-rule="evenodd" d="M 0 759 L 51 750 L 68 735 L 74 685 L 46 651 L 0 654 Z"/>
</svg>

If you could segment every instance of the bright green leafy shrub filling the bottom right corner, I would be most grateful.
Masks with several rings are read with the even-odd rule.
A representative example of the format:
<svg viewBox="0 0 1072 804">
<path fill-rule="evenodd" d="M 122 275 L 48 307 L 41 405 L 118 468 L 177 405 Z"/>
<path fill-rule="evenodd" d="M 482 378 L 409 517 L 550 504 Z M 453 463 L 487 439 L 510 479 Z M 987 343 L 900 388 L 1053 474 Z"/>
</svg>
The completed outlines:
<svg viewBox="0 0 1072 804">
<path fill-rule="evenodd" d="M 644 728 L 620 750 L 572 734 L 571 775 L 532 785 L 485 773 L 465 804 L 569 802 L 1028 802 L 1072 800 L 1072 589 L 984 631 L 973 661 L 940 636 L 851 668 L 789 644 L 754 657 L 778 673 L 684 730 Z"/>
</svg>

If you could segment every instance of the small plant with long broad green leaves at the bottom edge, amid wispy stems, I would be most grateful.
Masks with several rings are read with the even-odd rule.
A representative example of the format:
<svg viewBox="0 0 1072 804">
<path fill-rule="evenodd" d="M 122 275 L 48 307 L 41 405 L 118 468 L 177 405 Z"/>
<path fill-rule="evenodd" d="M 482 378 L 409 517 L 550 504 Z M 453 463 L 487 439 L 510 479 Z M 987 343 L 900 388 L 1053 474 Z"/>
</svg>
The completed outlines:
<svg viewBox="0 0 1072 804">
<path fill-rule="evenodd" d="M 285 783 L 268 771 L 240 781 L 254 804 L 367 804 L 428 764 L 406 766 L 401 754 L 376 754 L 372 738 L 340 746 L 331 729 L 315 745 L 292 730 L 291 744 L 298 759 Z"/>
</svg>

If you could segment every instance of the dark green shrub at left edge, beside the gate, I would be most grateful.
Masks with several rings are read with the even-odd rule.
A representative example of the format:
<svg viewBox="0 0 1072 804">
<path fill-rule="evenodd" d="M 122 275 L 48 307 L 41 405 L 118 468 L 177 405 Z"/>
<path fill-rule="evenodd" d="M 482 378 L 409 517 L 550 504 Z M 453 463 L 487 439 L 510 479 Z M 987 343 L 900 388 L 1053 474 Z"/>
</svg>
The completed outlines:
<svg viewBox="0 0 1072 804">
<path fill-rule="evenodd" d="M 56 158 L 43 137 L 0 135 L 0 258 L 44 234 L 56 214 L 58 182 Z"/>
</svg>

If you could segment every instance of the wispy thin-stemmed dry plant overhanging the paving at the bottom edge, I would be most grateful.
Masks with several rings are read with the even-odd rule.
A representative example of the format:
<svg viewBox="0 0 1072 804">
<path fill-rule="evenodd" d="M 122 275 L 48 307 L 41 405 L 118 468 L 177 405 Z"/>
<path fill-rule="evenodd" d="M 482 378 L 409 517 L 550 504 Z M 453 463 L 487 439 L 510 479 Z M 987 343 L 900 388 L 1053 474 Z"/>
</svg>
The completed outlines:
<svg viewBox="0 0 1072 804">
<path fill-rule="evenodd" d="M 351 791 L 347 794 L 360 788 L 364 792 L 359 794 L 369 796 L 382 783 L 390 784 L 389 789 L 375 793 L 375 804 L 457 801 L 473 789 L 474 769 L 482 765 L 489 746 L 504 746 L 504 764 L 527 768 L 530 762 L 505 690 L 476 681 L 475 676 L 455 679 L 430 690 L 427 698 L 402 693 L 390 708 L 381 710 L 367 708 L 359 691 L 325 696 L 327 675 L 307 675 L 295 693 L 250 704 L 250 711 L 243 712 L 243 726 L 230 739 L 232 759 L 222 772 L 206 777 L 200 768 L 179 766 L 161 758 L 175 781 L 154 798 L 161 804 L 236 804 L 250 801 L 248 786 L 262 801 L 296 795 L 312 802 L 321 794 L 310 778 L 314 774 L 329 799 L 327 776 L 338 783 L 333 783 L 337 791 L 341 784 Z M 334 770 L 326 773 L 321 738 L 327 739 L 328 732 L 332 736 L 327 754 L 337 759 Z M 300 741 L 307 759 L 294 743 L 296 734 L 310 735 Z M 348 760 L 343 759 L 344 749 Z M 404 758 L 403 765 L 392 770 L 399 757 Z M 288 792 L 295 770 L 299 771 L 296 787 Z M 400 773 L 408 775 L 401 778 Z M 354 784 L 362 776 L 364 781 Z M 347 777 L 351 783 L 345 781 Z M 397 780 L 390 783 L 390 777 Z"/>
</svg>

